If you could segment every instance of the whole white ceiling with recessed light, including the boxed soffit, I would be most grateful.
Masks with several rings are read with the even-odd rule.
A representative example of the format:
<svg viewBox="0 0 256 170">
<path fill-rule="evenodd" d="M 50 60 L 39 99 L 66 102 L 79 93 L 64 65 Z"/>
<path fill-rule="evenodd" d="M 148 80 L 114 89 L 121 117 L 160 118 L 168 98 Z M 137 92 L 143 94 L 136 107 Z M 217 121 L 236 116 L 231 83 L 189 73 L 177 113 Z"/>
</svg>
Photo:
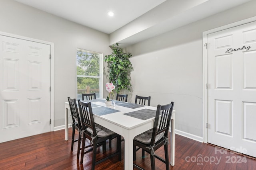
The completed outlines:
<svg viewBox="0 0 256 170">
<path fill-rule="evenodd" d="M 110 45 L 138 43 L 250 0 L 15 0 L 110 34 Z M 110 17 L 107 12 L 115 16 Z"/>
</svg>

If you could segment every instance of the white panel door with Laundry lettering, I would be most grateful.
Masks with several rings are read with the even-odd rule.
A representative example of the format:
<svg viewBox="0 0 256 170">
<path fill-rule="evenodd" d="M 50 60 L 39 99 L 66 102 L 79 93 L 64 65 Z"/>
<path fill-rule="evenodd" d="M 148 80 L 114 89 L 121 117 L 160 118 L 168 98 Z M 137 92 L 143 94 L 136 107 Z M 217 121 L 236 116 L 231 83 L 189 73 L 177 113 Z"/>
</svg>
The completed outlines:
<svg viewBox="0 0 256 170">
<path fill-rule="evenodd" d="M 207 43 L 207 141 L 256 157 L 256 22 L 209 34 Z"/>
</svg>

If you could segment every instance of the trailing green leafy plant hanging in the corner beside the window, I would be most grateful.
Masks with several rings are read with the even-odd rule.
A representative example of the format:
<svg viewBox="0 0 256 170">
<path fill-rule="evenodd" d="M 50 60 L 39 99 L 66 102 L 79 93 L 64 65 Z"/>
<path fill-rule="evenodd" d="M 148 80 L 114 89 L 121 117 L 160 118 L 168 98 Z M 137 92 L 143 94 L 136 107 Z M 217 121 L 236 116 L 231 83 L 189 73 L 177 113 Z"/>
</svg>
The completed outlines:
<svg viewBox="0 0 256 170">
<path fill-rule="evenodd" d="M 124 53 L 123 49 L 116 45 L 112 45 L 112 54 L 105 55 L 104 60 L 108 63 L 109 81 L 116 86 L 116 93 L 126 89 L 131 91 L 130 74 L 133 70 L 132 63 L 129 58 L 131 53 Z"/>
</svg>

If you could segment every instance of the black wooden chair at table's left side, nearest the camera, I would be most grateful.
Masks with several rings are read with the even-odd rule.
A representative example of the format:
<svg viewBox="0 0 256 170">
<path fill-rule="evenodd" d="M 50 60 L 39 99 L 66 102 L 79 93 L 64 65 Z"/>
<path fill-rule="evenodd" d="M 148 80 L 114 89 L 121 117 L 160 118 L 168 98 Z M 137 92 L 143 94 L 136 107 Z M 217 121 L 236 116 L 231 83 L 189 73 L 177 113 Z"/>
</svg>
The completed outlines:
<svg viewBox="0 0 256 170">
<path fill-rule="evenodd" d="M 81 160 L 80 164 L 83 164 L 84 159 L 84 149 L 86 138 L 91 141 L 93 145 L 93 156 L 92 156 L 92 170 L 94 170 L 95 165 L 107 160 L 118 154 L 118 160 L 121 160 L 121 136 L 109 129 L 94 123 L 94 116 L 92 113 L 91 102 L 82 102 L 78 100 L 78 106 L 80 111 L 81 123 L 82 123 L 82 150 L 81 150 Z M 96 161 L 96 151 L 99 145 L 103 145 L 102 150 L 106 151 L 106 140 L 117 137 L 116 139 L 116 152 L 108 154 L 104 158 Z M 80 148 L 80 143 L 78 143 Z M 104 154 L 105 155 L 105 154 Z"/>
</svg>

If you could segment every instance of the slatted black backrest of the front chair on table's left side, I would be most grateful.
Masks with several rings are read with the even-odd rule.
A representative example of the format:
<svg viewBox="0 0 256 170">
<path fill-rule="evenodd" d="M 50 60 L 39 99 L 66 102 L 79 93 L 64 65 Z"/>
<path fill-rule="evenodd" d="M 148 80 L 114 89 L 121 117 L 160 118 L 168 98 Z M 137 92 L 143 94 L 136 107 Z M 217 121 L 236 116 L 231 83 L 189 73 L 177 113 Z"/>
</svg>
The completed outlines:
<svg viewBox="0 0 256 170">
<path fill-rule="evenodd" d="M 97 133 L 95 129 L 91 102 L 82 102 L 78 100 L 78 107 L 83 130 L 85 130 L 87 127 L 90 127 L 93 131 L 94 136 L 96 136 Z"/>
</svg>

